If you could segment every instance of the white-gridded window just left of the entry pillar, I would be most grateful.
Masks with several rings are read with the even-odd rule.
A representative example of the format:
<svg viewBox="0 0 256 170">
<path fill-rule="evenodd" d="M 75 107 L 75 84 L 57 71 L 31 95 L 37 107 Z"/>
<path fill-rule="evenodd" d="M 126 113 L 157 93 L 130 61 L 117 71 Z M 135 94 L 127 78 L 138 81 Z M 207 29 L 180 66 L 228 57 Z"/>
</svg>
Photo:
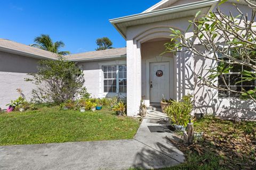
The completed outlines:
<svg viewBox="0 0 256 170">
<path fill-rule="evenodd" d="M 126 65 L 102 66 L 103 92 L 125 93 L 127 89 Z"/>
</svg>

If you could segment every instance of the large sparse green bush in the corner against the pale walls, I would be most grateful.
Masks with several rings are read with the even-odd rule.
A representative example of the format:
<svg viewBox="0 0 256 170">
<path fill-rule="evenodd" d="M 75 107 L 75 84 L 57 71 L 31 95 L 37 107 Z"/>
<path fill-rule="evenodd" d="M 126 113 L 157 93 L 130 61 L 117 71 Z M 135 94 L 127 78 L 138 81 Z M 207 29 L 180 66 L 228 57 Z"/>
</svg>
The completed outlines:
<svg viewBox="0 0 256 170">
<path fill-rule="evenodd" d="M 37 103 L 54 101 L 57 104 L 75 100 L 78 96 L 87 98 L 84 75 L 74 62 L 64 60 L 44 60 L 38 62 L 38 72 L 29 74 L 33 78 L 26 79 L 37 85 L 32 91 Z"/>
</svg>

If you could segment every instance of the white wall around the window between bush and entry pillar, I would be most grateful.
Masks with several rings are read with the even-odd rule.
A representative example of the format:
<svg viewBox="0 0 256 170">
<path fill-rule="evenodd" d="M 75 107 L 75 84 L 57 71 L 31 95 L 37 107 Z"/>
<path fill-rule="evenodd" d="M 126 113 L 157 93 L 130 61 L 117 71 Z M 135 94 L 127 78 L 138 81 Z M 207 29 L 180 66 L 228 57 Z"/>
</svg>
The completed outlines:
<svg viewBox="0 0 256 170">
<path fill-rule="evenodd" d="M 122 65 L 126 64 L 126 60 L 106 60 L 106 61 L 94 61 L 94 62 L 80 62 L 78 67 L 83 70 L 85 83 L 87 91 L 95 98 L 103 97 L 121 97 L 125 98 L 126 94 L 108 94 L 104 93 L 103 86 L 103 77 L 102 77 L 102 66 L 103 65 Z"/>
</svg>

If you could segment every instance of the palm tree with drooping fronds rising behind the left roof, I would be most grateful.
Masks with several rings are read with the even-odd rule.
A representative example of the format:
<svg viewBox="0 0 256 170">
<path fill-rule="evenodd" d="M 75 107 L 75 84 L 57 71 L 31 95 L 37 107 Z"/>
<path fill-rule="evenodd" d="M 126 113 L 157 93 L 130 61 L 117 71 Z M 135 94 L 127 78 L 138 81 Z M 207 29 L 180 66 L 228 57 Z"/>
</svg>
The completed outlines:
<svg viewBox="0 0 256 170">
<path fill-rule="evenodd" d="M 36 44 L 31 44 L 32 47 L 37 47 L 40 49 L 47 50 L 52 53 L 56 53 L 59 55 L 67 55 L 70 54 L 69 51 L 60 52 L 59 48 L 64 47 L 65 44 L 62 41 L 57 41 L 53 43 L 51 37 L 49 35 L 42 34 L 34 39 Z"/>
</svg>

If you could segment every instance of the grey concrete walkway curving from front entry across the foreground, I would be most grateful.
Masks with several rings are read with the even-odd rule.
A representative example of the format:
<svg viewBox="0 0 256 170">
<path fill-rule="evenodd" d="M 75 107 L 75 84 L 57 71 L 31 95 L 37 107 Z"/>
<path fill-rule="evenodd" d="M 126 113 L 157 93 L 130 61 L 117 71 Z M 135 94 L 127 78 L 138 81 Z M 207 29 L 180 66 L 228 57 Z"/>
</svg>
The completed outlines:
<svg viewBox="0 0 256 170">
<path fill-rule="evenodd" d="M 149 131 L 148 126 L 161 124 L 166 122 L 148 115 L 132 140 L 0 146 L 0 169 L 151 169 L 178 165 L 185 157 L 166 138 L 175 135 Z"/>
</svg>

